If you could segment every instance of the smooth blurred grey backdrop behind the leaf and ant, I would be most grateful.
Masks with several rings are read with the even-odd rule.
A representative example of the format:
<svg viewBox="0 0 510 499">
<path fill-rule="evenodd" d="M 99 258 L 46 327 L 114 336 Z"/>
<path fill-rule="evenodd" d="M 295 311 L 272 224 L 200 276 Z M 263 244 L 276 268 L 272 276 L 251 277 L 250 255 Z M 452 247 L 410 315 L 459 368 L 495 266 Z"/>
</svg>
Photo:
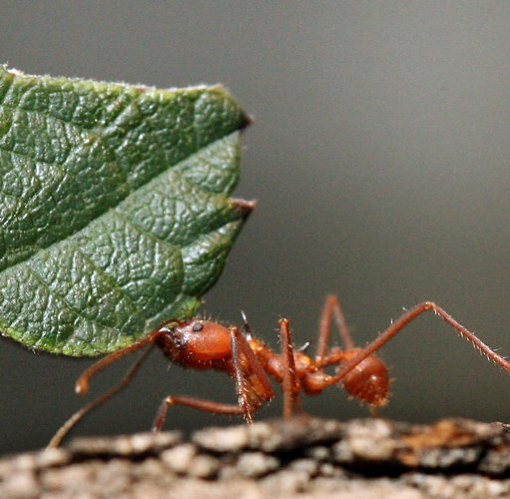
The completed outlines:
<svg viewBox="0 0 510 499">
<path fill-rule="evenodd" d="M 510 354 L 508 2 L 4 0 L 0 18 L 10 67 L 161 87 L 223 82 L 254 116 L 236 195 L 259 206 L 206 296 L 214 316 L 239 321 L 243 308 L 277 348 L 286 315 L 303 343 L 334 292 L 364 345 L 428 298 Z M 508 373 L 433 314 L 381 356 L 395 378 L 383 416 L 510 421 Z M 73 384 L 91 362 L 2 338 L 0 453 L 45 444 L 83 404 Z M 235 400 L 224 375 L 167 364 L 153 352 L 74 434 L 147 430 L 166 394 Z M 336 387 L 304 406 L 368 414 Z M 257 417 L 280 411 L 278 396 Z M 228 422 L 175 408 L 166 427 Z"/>
</svg>

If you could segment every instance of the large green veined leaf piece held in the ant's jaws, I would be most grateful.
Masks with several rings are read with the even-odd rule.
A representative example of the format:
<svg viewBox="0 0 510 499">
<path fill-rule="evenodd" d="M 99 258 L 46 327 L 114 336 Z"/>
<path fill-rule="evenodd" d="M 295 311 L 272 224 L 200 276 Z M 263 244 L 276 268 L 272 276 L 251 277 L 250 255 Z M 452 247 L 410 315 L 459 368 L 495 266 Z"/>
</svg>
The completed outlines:
<svg viewBox="0 0 510 499">
<path fill-rule="evenodd" d="M 0 66 L 0 330 L 71 356 L 192 315 L 249 213 L 248 119 L 221 86 L 159 90 Z"/>
</svg>

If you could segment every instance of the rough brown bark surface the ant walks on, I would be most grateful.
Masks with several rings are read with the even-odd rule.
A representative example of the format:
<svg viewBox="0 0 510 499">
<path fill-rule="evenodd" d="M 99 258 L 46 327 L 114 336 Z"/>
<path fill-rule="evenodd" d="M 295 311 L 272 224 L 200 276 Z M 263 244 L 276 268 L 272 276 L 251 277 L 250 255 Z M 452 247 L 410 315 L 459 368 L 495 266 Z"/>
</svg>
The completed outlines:
<svg viewBox="0 0 510 499">
<path fill-rule="evenodd" d="M 81 438 L 0 460 L 0 497 L 510 497 L 500 423 L 296 418 Z"/>
</svg>

